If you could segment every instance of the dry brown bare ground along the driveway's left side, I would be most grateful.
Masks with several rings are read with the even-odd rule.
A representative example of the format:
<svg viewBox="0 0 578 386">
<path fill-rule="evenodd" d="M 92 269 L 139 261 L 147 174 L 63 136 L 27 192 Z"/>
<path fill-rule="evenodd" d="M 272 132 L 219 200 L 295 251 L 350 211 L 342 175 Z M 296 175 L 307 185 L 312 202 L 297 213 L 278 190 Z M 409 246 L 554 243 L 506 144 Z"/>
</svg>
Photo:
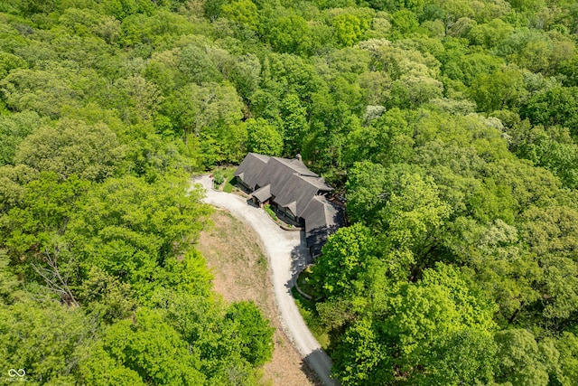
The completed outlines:
<svg viewBox="0 0 578 386">
<path fill-rule="evenodd" d="M 321 385 L 281 328 L 273 285 L 256 233 L 228 212 L 216 210 L 214 226 L 200 234 L 197 249 L 215 276 L 214 290 L 228 302 L 253 300 L 275 326 L 275 351 L 264 366 L 265 378 L 275 386 Z"/>
</svg>

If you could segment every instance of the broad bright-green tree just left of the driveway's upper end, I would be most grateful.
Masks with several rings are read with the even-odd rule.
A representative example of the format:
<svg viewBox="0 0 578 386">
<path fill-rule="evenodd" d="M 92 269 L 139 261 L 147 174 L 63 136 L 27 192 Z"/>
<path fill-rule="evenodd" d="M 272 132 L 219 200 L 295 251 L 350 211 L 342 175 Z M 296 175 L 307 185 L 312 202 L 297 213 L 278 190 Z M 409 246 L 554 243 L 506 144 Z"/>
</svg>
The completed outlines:
<svg viewBox="0 0 578 386">
<path fill-rule="evenodd" d="M 67 233 L 82 268 L 101 268 L 146 297 L 157 286 L 154 279 L 159 268 L 189 249 L 203 227 L 209 209 L 200 204 L 199 190 L 186 194 L 187 188 L 186 180 L 180 178 L 146 184 L 125 176 L 108 179 L 90 191 L 70 220 Z M 181 281 L 187 287 L 189 274 L 182 275 L 176 283 Z"/>
</svg>

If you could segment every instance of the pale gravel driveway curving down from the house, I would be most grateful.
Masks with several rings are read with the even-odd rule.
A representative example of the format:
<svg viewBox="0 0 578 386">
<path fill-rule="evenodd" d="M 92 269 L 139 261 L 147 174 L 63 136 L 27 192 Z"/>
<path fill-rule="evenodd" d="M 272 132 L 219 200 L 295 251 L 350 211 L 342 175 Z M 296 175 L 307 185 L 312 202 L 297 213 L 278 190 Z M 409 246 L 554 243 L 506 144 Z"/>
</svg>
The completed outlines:
<svg viewBox="0 0 578 386">
<path fill-rule="evenodd" d="M 331 358 L 322 350 L 305 325 L 291 295 L 294 279 L 305 265 L 307 249 L 303 245 L 302 232 L 284 231 L 263 209 L 251 206 L 247 199 L 237 194 L 215 191 L 209 175 L 196 177 L 192 183 L 201 184 L 205 188 L 207 196 L 204 202 L 228 210 L 259 235 L 269 260 L 275 302 L 285 334 L 324 385 L 338 385 L 339 383 L 330 377 Z"/>
</svg>

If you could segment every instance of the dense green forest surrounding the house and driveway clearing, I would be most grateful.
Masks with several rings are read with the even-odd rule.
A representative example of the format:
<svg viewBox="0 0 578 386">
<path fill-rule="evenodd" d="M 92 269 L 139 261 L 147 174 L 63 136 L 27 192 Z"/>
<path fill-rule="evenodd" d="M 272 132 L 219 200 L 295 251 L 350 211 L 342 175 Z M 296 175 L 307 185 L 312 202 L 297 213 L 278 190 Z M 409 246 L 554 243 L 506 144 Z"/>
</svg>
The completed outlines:
<svg viewBox="0 0 578 386">
<path fill-rule="evenodd" d="M 189 184 L 256 152 L 347 200 L 342 385 L 575 386 L 577 43 L 574 0 L 3 0 L 0 381 L 264 384 Z"/>
</svg>

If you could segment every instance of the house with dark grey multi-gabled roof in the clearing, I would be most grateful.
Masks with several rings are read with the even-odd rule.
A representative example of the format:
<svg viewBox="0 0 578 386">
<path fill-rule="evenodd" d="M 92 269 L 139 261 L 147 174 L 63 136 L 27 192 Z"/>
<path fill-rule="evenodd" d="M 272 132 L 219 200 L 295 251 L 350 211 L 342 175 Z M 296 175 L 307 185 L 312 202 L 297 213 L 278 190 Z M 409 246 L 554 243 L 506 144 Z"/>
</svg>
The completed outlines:
<svg viewBox="0 0 578 386">
<path fill-rule="evenodd" d="M 234 175 L 253 202 L 268 203 L 281 220 L 305 229 L 312 258 L 321 255 L 328 237 L 344 223 L 342 208 L 327 199 L 333 188 L 299 155 L 287 159 L 249 153 Z"/>
</svg>

